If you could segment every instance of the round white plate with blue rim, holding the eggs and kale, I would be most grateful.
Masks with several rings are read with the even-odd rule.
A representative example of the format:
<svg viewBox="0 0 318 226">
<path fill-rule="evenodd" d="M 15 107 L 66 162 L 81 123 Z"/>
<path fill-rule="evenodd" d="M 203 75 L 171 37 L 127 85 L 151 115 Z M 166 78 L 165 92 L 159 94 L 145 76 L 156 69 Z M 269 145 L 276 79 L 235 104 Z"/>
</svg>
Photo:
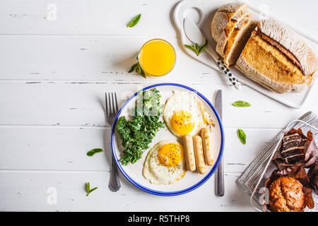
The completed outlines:
<svg viewBox="0 0 318 226">
<path fill-rule="evenodd" d="M 124 148 L 122 147 L 122 141 L 116 130 L 117 119 L 119 119 L 119 117 L 122 116 L 125 116 L 126 119 L 129 119 L 129 113 L 131 112 L 131 109 L 134 109 L 136 105 L 136 98 L 138 92 L 132 95 L 128 100 L 126 100 L 124 105 L 122 105 L 122 107 L 119 109 L 119 112 L 114 120 L 111 135 L 112 153 L 114 153 L 114 159 L 119 167 L 119 170 L 122 172 L 122 174 L 124 174 L 124 177 L 126 177 L 126 179 L 128 179 L 129 182 L 131 182 L 131 184 L 134 184 L 134 186 L 136 186 L 137 188 L 158 196 L 177 196 L 185 194 L 189 191 L 193 191 L 194 189 L 204 184 L 204 182 L 206 182 L 206 180 L 208 180 L 211 177 L 211 175 L 216 171 L 220 159 L 223 155 L 223 126 L 220 121 L 220 118 L 218 117 L 218 113 L 216 112 L 216 109 L 214 109 L 211 102 L 209 102 L 208 99 L 204 97 L 204 95 L 201 95 L 201 93 L 197 92 L 196 90 L 189 88 L 186 85 L 180 85 L 177 83 L 159 83 L 143 88 L 143 90 L 151 90 L 153 88 L 156 88 L 160 91 L 160 95 L 162 96 L 160 98 L 161 104 L 164 104 L 167 98 L 172 95 L 173 90 L 191 92 L 193 93 L 193 95 L 198 95 L 198 97 L 204 102 L 206 110 L 211 114 L 211 119 L 213 120 L 214 124 L 216 124 L 216 126 L 212 129 L 214 165 L 208 166 L 208 172 L 206 174 L 199 174 L 199 172 L 188 171 L 182 179 L 170 185 L 151 184 L 150 182 L 148 182 L 148 180 L 146 180 L 143 177 L 143 163 L 146 160 L 148 150 L 144 151 L 143 157 L 136 163 L 122 165 L 122 163 L 119 160 L 122 157 L 122 151 L 124 150 Z M 182 140 L 176 138 L 172 133 L 170 133 L 170 131 L 167 128 L 165 128 L 160 129 L 160 131 L 158 131 L 155 138 L 153 138 L 153 142 L 149 146 L 150 148 L 152 148 L 156 143 L 170 138 L 179 141 L 179 143 L 183 143 Z"/>
</svg>

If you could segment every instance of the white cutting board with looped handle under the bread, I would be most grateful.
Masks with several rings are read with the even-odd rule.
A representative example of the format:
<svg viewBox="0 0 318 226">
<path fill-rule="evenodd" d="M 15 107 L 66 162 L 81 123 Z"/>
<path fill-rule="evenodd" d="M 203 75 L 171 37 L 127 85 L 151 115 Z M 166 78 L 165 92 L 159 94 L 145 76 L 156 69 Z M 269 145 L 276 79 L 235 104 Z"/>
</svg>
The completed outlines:
<svg viewBox="0 0 318 226">
<path fill-rule="evenodd" d="M 181 41 L 180 44 L 182 44 L 182 48 L 184 49 L 184 52 L 187 52 L 189 56 L 196 59 L 197 61 L 201 62 L 202 64 L 206 64 L 207 66 L 210 66 L 212 69 L 215 69 L 220 72 L 218 66 L 216 65 L 216 61 L 208 54 L 201 54 L 199 57 L 194 54 L 191 50 L 184 47 L 184 44 L 191 44 L 191 42 L 187 39 L 187 36 L 184 33 L 183 29 L 183 21 L 184 18 L 187 16 L 190 16 L 195 23 L 197 23 L 198 27 L 200 28 L 201 32 L 204 34 L 206 39 L 208 40 L 208 43 L 211 44 L 213 49 L 216 49 L 216 42 L 213 40 L 211 36 L 211 21 L 218 10 L 220 6 L 223 4 L 228 4 L 233 1 L 228 0 L 215 0 L 215 1 L 202 1 L 202 0 L 184 0 L 180 1 L 177 6 L 175 6 L 174 12 L 173 12 L 173 19 L 175 22 L 175 28 L 178 32 L 178 37 Z M 255 8 L 252 8 L 249 6 L 249 11 L 253 13 L 253 18 L 257 20 L 261 20 L 264 18 L 271 18 L 273 20 L 278 20 L 274 18 L 273 16 L 269 15 L 269 13 L 260 12 Z M 285 23 L 284 21 L 278 20 L 279 22 L 289 26 L 290 28 L 293 28 L 291 25 L 288 25 L 288 23 Z M 318 40 L 317 37 L 311 37 L 307 34 L 301 32 L 298 29 L 293 28 L 295 32 L 298 32 L 302 37 L 304 37 L 304 40 L 307 42 L 307 44 L 314 50 L 314 52 L 317 53 L 318 49 Z M 271 90 L 268 90 L 264 88 L 262 85 L 259 85 L 258 83 L 255 83 L 254 81 L 247 78 L 242 72 L 239 70 L 232 68 L 232 73 L 235 74 L 237 77 L 237 80 L 239 80 L 241 83 L 248 85 L 250 88 L 253 88 L 254 90 L 257 90 L 259 93 L 262 93 L 268 97 L 270 97 L 273 100 L 276 100 L 278 102 L 281 102 L 284 105 L 287 105 L 288 107 L 295 107 L 300 108 L 302 104 L 305 102 L 305 99 L 307 95 L 310 94 L 310 90 L 312 90 L 312 86 L 314 83 L 309 87 L 305 88 L 305 90 L 302 90 L 301 93 L 275 93 Z M 224 76 L 222 72 L 219 73 L 220 76 Z M 242 92 L 242 90 L 238 90 L 238 92 Z"/>
</svg>

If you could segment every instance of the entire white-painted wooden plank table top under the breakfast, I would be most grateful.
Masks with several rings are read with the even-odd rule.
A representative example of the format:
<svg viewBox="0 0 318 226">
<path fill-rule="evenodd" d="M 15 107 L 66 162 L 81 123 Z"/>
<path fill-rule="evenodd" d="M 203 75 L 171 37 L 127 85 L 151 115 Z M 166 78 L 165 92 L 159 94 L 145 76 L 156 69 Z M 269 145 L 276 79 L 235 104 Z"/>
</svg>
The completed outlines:
<svg viewBox="0 0 318 226">
<path fill-rule="evenodd" d="M 271 15 L 317 37 L 315 0 L 247 2 L 268 7 Z M 245 85 L 235 90 L 182 52 L 170 20 L 176 3 L 1 1 L 0 210 L 254 210 L 235 180 L 288 121 L 310 110 L 318 112 L 318 87 L 301 109 L 285 107 Z M 138 13 L 139 24 L 126 28 Z M 155 37 L 175 47 L 175 69 L 162 78 L 127 73 L 141 45 Z M 161 82 L 189 85 L 210 99 L 223 90 L 225 196 L 215 196 L 214 176 L 199 189 L 175 197 L 147 194 L 122 175 L 122 188 L 117 193 L 108 189 L 111 148 L 105 91 L 116 91 L 122 103 L 136 90 Z M 232 107 L 236 100 L 252 107 Z M 237 138 L 238 128 L 247 133 L 246 145 Z M 105 152 L 86 156 L 93 148 Z M 98 186 L 88 197 L 86 182 Z"/>
</svg>

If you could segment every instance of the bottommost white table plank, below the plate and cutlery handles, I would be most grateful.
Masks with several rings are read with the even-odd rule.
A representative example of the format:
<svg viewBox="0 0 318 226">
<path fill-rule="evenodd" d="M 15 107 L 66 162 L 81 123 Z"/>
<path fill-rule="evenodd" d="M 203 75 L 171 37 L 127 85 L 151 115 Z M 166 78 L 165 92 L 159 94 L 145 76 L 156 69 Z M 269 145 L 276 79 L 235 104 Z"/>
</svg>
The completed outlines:
<svg viewBox="0 0 318 226">
<path fill-rule="evenodd" d="M 43 211 L 250 211 L 249 199 L 235 184 L 238 174 L 225 174 L 228 185 L 226 196 L 214 195 L 214 180 L 182 196 L 163 197 L 149 195 L 120 177 L 122 188 L 114 193 L 108 189 L 108 172 L 0 172 L 1 206 L 6 210 Z M 98 186 L 86 197 L 84 183 Z M 35 186 L 39 184 L 39 186 Z M 47 202 L 52 189 L 56 189 L 57 203 Z M 240 195 L 238 195 L 240 194 Z M 52 204 L 49 204 L 52 203 Z M 149 205 L 147 205 L 147 203 Z M 182 204 L 181 204 L 182 203 Z M 4 208 L 4 207 L 1 207 Z"/>
</svg>

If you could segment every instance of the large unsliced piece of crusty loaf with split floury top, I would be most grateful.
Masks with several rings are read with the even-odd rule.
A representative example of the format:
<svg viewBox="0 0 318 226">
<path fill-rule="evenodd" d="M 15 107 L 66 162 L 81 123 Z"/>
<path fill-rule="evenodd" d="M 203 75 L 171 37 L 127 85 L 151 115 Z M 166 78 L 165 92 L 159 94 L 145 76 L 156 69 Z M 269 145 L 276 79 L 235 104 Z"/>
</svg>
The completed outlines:
<svg viewBox="0 0 318 226">
<path fill-rule="evenodd" d="M 318 59 L 293 30 L 261 20 L 245 44 L 236 67 L 278 93 L 299 93 L 317 76 Z"/>
</svg>

